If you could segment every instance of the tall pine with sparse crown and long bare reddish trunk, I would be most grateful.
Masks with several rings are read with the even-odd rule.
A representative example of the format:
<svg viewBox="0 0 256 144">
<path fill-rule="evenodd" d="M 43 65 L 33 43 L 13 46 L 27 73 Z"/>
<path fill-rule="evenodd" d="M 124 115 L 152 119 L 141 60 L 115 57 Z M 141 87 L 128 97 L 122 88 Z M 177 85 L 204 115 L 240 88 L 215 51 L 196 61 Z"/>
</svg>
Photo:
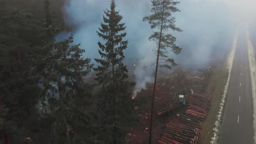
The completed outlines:
<svg viewBox="0 0 256 144">
<path fill-rule="evenodd" d="M 170 30 L 181 32 L 181 29 L 175 25 L 175 18 L 172 13 L 179 12 L 176 5 L 180 2 L 174 0 L 152 0 L 152 8 L 149 16 L 143 18 L 143 21 L 148 21 L 151 25 L 151 29 L 156 30 L 150 37 L 149 40 L 154 40 L 157 43 L 157 49 L 154 50 L 157 54 L 157 62 L 154 77 L 154 88 L 151 105 L 151 120 L 150 120 L 150 135 L 149 144 L 151 144 L 152 137 L 152 120 L 154 112 L 154 97 L 155 88 L 158 75 L 158 67 L 165 67 L 171 69 L 176 66 L 177 63 L 174 59 L 168 58 L 168 51 L 174 52 L 178 55 L 181 52 L 181 48 L 175 45 L 176 37 L 170 34 Z M 163 63 L 163 64 L 160 64 Z"/>
</svg>

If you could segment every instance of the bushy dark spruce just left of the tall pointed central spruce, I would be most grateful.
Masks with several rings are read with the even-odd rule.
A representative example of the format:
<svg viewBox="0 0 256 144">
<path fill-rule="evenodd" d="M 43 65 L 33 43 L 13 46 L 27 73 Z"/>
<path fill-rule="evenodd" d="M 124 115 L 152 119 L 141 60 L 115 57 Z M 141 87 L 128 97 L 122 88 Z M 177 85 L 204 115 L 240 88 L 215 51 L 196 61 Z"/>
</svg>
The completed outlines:
<svg viewBox="0 0 256 144">
<path fill-rule="evenodd" d="M 92 86 L 85 83 L 85 76 L 91 72 L 93 64 L 84 59 L 85 50 L 72 45 L 70 36 L 53 45 L 53 52 L 43 56 L 43 89 L 46 93 L 46 118 L 52 127 L 48 136 L 52 143 L 74 144 L 89 141 L 89 105 Z M 53 90 L 53 91 L 52 91 Z"/>
</svg>

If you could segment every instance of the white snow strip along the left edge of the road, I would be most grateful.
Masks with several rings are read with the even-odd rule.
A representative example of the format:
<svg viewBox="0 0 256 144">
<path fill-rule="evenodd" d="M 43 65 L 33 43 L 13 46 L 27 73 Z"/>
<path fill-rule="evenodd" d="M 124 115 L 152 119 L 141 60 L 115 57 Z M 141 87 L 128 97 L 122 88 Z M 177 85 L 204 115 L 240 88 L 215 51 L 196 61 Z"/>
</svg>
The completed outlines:
<svg viewBox="0 0 256 144">
<path fill-rule="evenodd" d="M 213 137 L 211 139 L 210 144 L 217 144 L 218 137 L 219 137 L 219 132 L 220 132 L 219 127 L 220 127 L 220 120 L 221 120 L 222 113 L 223 113 L 223 105 L 224 105 L 225 100 L 226 100 L 226 93 L 228 91 L 228 86 L 229 86 L 229 82 L 230 82 L 230 73 L 231 73 L 231 70 L 232 70 L 232 65 L 233 65 L 233 61 L 234 61 L 234 57 L 235 57 L 235 53 L 236 53 L 237 35 L 238 35 L 238 33 L 236 32 L 235 38 L 233 40 L 233 46 L 232 46 L 231 52 L 227 57 L 226 69 L 228 70 L 228 78 L 227 78 L 226 85 L 225 85 L 225 88 L 224 88 L 224 92 L 223 92 L 223 95 L 222 95 L 222 100 L 221 100 L 221 103 L 220 103 L 220 109 L 219 109 L 219 112 L 218 112 L 218 115 L 217 115 L 217 121 L 215 121 L 215 128 L 213 128 L 214 133 L 213 133 Z"/>
</svg>

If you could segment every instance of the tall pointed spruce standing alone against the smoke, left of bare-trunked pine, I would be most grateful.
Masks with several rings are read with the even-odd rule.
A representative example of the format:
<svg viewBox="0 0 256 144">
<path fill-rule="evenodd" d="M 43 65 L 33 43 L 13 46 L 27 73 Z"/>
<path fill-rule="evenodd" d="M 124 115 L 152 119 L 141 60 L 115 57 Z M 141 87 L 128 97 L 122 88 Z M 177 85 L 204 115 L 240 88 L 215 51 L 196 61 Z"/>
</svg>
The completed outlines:
<svg viewBox="0 0 256 144">
<path fill-rule="evenodd" d="M 110 10 L 105 10 L 104 23 L 98 28 L 98 36 L 105 43 L 98 42 L 101 59 L 94 68 L 96 80 L 103 86 L 102 98 L 98 103 L 98 139 L 105 144 L 124 143 L 126 128 L 133 123 L 133 104 L 131 87 L 127 81 L 128 70 L 122 62 L 125 58 L 123 50 L 127 48 L 125 23 L 120 23 L 122 16 L 115 10 L 115 0 L 111 1 Z M 123 32 L 123 33 L 122 33 Z"/>
</svg>

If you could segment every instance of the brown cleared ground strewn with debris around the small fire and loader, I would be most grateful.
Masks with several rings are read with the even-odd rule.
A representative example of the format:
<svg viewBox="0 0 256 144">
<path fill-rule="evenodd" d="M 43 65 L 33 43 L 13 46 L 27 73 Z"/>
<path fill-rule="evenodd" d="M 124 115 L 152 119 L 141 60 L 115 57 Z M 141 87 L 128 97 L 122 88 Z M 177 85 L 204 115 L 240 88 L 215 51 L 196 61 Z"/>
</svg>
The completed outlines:
<svg viewBox="0 0 256 144">
<path fill-rule="evenodd" d="M 170 75 L 159 76 L 154 103 L 153 144 L 161 137 L 164 124 L 176 114 L 184 112 L 187 109 L 187 105 L 178 105 L 161 116 L 158 116 L 156 111 L 174 104 L 177 101 L 176 94 L 185 95 L 186 98 L 186 95 L 191 93 L 190 88 L 194 91 L 205 92 L 211 75 L 212 68 L 205 67 L 204 69 L 177 68 Z M 135 98 L 136 112 L 140 117 L 140 124 L 136 128 L 129 129 L 127 144 L 148 144 L 152 88 L 153 85 L 148 84 L 147 90 L 141 91 Z"/>
</svg>

